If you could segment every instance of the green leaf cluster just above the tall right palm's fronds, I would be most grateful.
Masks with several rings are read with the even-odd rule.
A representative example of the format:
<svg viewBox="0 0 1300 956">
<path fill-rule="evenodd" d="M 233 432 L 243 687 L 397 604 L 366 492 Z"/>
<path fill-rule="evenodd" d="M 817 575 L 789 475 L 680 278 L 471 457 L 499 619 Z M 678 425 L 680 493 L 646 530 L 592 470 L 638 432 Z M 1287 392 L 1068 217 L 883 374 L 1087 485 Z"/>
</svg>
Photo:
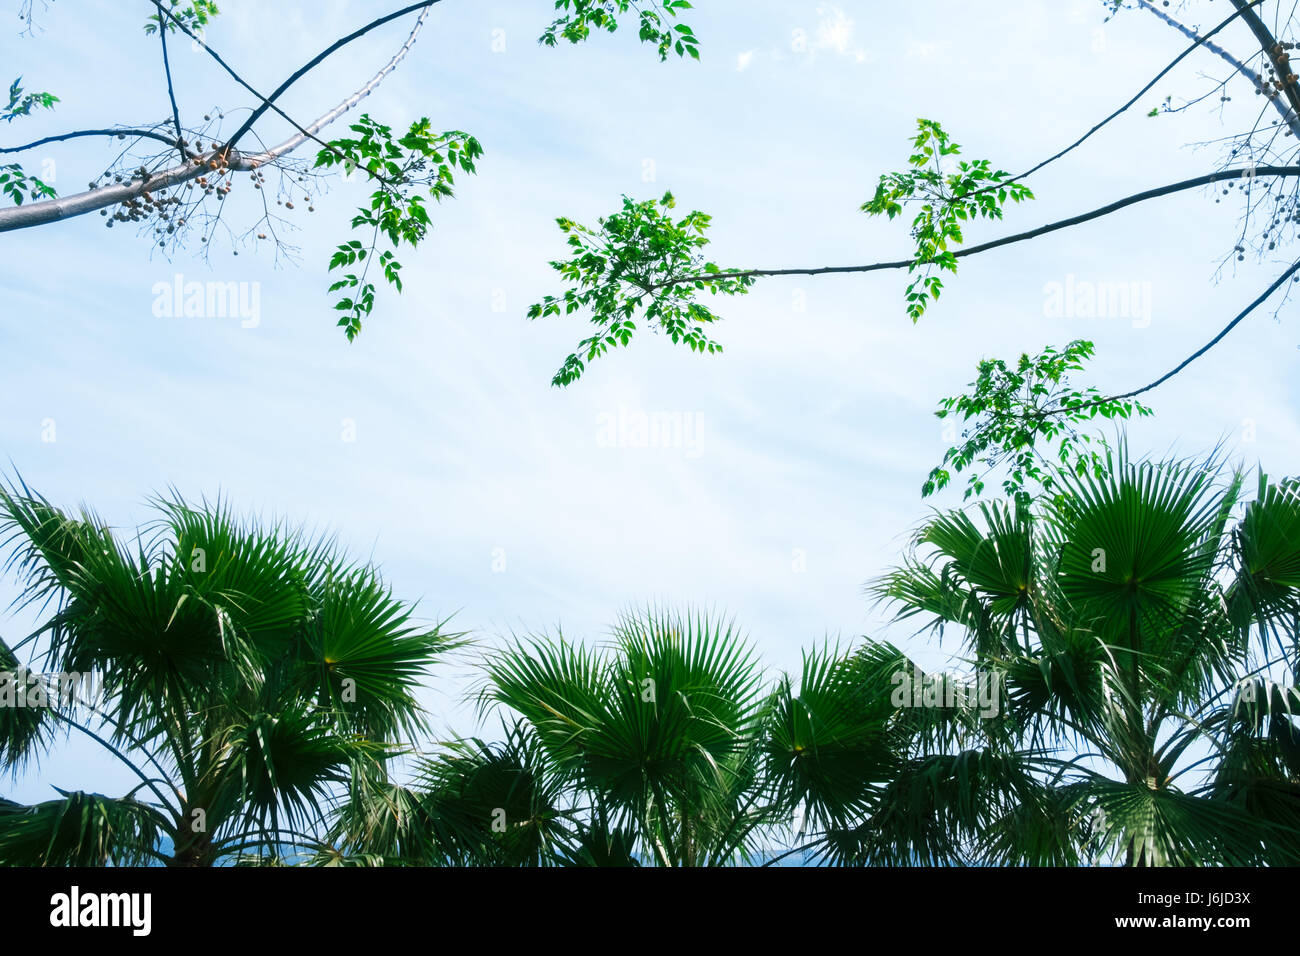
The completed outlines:
<svg viewBox="0 0 1300 956">
<path fill-rule="evenodd" d="M 962 431 L 961 442 L 950 446 L 942 463 L 930 472 L 922 497 L 945 488 L 953 471 L 975 464 L 984 470 L 1006 464 L 1002 489 L 1008 496 L 1027 494 L 1030 481 L 1050 492 L 1054 472 L 1039 450 L 1040 441 L 1058 442 L 1056 458 L 1075 475 L 1105 473 L 1105 459 L 1098 451 L 1105 449 L 1105 438 L 1078 427 L 1097 418 L 1127 419 L 1152 411 L 1131 399 L 1105 398 L 1095 388 L 1071 388 L 1067 373 L 1080 371 L 1092 355 L 1092 342 L 1075 339 L 1062 350 L 1049 346 L 1037 355 L 1022 354 L 1014 368 L 1001 359 L 980 362 L 971 392 L 942 399 L 935 412 L 940 419 L 959 418 L 970 424 Z M 983 472 L 972 471 L 963 498 L 983 490 Z"/>
</svg>

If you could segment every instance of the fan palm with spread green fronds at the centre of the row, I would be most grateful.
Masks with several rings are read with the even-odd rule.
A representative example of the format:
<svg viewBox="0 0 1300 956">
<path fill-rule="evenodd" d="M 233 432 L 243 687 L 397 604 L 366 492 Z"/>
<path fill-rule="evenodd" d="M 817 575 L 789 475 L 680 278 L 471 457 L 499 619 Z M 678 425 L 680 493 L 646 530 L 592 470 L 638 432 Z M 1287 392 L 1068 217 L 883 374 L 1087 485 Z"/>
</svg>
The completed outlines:
<svg viewBox="0 0 1300 956">
<path fill-rule="evenodd" d="M 757 812 L 762 670 L 731 623 L 625 615 L 607 653 L 560 640 L 488 663 L 484 700 L 520 714 L 599 834 L 663 866 L 746 856 Z"/>
</svg>

